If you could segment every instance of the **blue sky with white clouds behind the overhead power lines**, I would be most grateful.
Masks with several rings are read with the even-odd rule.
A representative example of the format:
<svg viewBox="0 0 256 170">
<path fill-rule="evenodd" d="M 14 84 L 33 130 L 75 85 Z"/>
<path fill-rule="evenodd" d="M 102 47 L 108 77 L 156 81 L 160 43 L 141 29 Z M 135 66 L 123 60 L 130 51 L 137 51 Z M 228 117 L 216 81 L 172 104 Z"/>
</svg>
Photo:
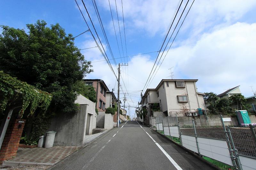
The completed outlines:
<svg viewBox="0 0 256 170">
<path fill-rule="evenodd" d="M 89 21 L 82 2 L 77 1 L 86 20 Z M 108 57 L 111 58 L 92 1 L 85 0 L 84 2 Z M 178 2 L 178 0 L 123 0 L 128 56 L 158 50 Z M 184 7 L 185 2 L 181 8 Z M 118 58 L 120 55 L 108 1 L 96 0 L 96 3 L 111 49 L 115 58 Z M 116 3 L 124 55 L 126 55 L 121 0 L 117 0 Z M 123 56 L 115 1 L 110 0 L 110 5 L 120 52 Z M 225 89 L 241 85 L 240 89 L 244 96 L 251 96 L 252 92 L 249 86 L 252 85 L 254 91 L 256 90 L 255 72 L 253 71 L 256 63 L 255 11 L 256 1 L 254 0 L 196 0 L 149 88 L 155 88 L 161 79 L 168 78 L 170 72 L 168 69 L 173 67 L 172 71 L 176 79 L 199 79 L 197 88 L 200 92 L 221 93 Z M 88 29 L 73 0 L 9 0 L 1 3 L 0 25 L 26 30 L 26 24 L 35 23 L 38 19 L 45 20 L 48 25 L 59 23 L 67 34 L 72 33 L 74 36 Z M 93 29 L 91 25 L 90 28 Z M 95 32 L 92 32 L 96 36 Z M 96 46 L 89 32 L 77 37 L 75 45 L 78 48 Z M 92 62 L 104 60 L 97 48 L 81 52 L 87 60 Z M 128 57 L 129 66 L 122 67 L 124 83 L 121 84 L 123 89 L 126 87 L 132 95 L 131 98 L 130 96 L 127 98 L 130 100 L 128 103 L 131 106 L 138 103 L 140 92 L 136 91 L 143 89 L 154 64 L 155 56 L 156 53 Z M 124 59 L 122 61 L 124 63 Z M 122 61 L 121 59 L 116 60 L 117 63 L 122 63 Z M 112 61 L 111 63 L 116 71 L 115 64 Z M 93 63 L 93 69 L 94 72 L 87 75 L 87 78 L 103 79 L 109 89 L 115 88 L 115 92 L 117 92 L 116 79 L 106 62 Z"/>
</svg>

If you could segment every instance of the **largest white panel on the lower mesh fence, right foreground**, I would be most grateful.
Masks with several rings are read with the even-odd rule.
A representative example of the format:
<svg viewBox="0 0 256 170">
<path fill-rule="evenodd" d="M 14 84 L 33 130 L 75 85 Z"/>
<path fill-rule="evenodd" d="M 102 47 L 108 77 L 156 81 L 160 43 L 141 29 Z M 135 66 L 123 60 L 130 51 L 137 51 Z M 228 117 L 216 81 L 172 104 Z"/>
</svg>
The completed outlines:
<svg viewBox="0 0 256 170">
<path fill-rule="evenodd" d="M 225 164 L 233 165 L 226 140 L 197 137 L 197 141 L 200 154 Z"/>
</svg>

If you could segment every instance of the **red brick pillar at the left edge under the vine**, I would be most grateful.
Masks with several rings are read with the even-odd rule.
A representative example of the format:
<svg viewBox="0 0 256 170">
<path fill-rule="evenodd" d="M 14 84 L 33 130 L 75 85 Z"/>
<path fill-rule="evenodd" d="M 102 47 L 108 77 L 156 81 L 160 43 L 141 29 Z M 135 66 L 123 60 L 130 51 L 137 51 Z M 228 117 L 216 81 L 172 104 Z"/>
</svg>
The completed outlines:
<svg viewBox="0 0 256 170">
<path fill-rule="evenodd" d="M 21 122 L 19 123 L 19 121 Z M 4 160 L 12 159 L 17 154 L 25 121 L 23 119 L 15 119 L 9 122 L 0 150 L 0 164 Z"/>
</svg>

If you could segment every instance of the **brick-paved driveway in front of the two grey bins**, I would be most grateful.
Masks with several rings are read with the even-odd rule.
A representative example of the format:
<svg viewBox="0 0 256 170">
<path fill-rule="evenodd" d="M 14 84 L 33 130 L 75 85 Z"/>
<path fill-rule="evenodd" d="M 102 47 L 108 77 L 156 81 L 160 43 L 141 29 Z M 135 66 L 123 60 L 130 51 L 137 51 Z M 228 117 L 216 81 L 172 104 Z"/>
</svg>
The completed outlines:
<svg viewBox="0 0 256 170">
<path fill-rule="evenodd" d="M 19 149 L 16 157 L 8 161 L 55 164 L 78 149 L 76 146 Z"/>
</svg>

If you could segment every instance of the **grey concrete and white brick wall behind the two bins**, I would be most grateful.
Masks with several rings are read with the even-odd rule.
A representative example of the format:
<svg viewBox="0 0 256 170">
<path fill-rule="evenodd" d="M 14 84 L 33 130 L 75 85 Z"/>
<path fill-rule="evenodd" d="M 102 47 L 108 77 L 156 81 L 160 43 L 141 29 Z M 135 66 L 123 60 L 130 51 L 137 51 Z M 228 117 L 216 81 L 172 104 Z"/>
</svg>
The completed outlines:
<svg viewBox="0 0 256 170">
<path fill-rule="evenodd" d="M 79 109 L 74 113 L 61 113 L 52 118 L 49 130 L 56 131 L 54 146 L 82 146 L 86 135 L 96 128 L 95 103 L 78 95 L 75 103 Z"/>
</svg>

